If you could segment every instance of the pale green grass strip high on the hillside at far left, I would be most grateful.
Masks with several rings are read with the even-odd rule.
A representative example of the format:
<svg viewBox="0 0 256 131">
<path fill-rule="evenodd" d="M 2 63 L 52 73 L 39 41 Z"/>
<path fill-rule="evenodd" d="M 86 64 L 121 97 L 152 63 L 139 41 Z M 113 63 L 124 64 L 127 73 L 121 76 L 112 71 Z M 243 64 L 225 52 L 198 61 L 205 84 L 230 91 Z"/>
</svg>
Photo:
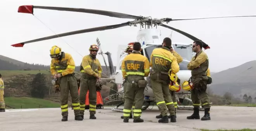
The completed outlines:
<svg viewBox="0 0 256 131">
<path fill-rule="evenodd" d="M 26 74 L 37 74 L 37 73 L 43 73 L 43 74 L 50 74 L 47 70 L 34 70 L 34 71 L 0 71 L 0 74 L 2 74 L 2 77 L 10 77 L 10 76 L 16 76 L 16 75 L 26 75 Z"/>
</svg>

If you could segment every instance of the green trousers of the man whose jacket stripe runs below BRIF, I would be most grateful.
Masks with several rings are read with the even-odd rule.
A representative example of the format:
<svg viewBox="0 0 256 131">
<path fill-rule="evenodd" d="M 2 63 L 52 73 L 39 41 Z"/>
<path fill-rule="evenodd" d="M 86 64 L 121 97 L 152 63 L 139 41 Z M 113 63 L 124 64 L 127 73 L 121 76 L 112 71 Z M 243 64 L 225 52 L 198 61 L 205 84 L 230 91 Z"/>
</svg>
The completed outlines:
<svg viewBox="0 0 256 131">
<path fill-rule="evenodd" d="M 144 79 L 143 76 L 128 76 L 125 89 L 125 107 L 123 109 L 124 119 L 129 119 L 131 108 L 135 103 L 133 109 L 133 119 L 140 119 L 142 114 L 141 108 L 144 102 L 145 87 L 138 87 L 138 81 Z"/>
</svg>

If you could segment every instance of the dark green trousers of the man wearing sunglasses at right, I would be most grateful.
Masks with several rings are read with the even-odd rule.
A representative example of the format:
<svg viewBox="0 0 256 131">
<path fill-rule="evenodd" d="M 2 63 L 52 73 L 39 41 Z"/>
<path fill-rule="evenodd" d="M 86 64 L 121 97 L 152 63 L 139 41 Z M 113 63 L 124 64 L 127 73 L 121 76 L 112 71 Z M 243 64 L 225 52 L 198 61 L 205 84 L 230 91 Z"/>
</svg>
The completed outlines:
<svg viewBox="0 0 256 131">
<path fill-rule="evenodd" d="M 204 109 L 211 107 L 211 102 L 206 92 L 206 89 L 206 81 L 200 81 L 200 84 L 196 84 L 194 89 L 191 90 L 191 100 L 194 107 L 199 107 L 200 101 L 202 102 L 202 106 L 204 106 Z"/>
</svg>

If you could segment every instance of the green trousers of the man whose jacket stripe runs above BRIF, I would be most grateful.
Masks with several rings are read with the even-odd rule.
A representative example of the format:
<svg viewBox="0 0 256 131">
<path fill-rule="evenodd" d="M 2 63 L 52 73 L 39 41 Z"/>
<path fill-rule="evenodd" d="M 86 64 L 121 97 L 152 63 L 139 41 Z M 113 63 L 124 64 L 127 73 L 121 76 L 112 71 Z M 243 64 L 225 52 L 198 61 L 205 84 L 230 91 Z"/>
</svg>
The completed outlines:
<svg viewBox="0 0 256 131">
<path fill-rule="evenodd" d="M 168 83 L 158 82 L 150 79 L 152 91 L 155 96 L 156 105 L 159 108 L 162 116 L 167 116 L 167 108 L 170 115 L 175 115 L 175 107 L 171 99 Z"/>
</svg>

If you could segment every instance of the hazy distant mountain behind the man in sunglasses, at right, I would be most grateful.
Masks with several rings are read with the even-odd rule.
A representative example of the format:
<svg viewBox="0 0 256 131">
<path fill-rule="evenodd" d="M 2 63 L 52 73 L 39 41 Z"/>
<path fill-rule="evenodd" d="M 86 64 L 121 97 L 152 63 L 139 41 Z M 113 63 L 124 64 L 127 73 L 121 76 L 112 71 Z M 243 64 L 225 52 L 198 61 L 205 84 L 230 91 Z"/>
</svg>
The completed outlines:
<svg viewBox="0 0 256 131">
<path fill-rule="evenodd" d="M 234 96 L 247 94 L 256 97 L 256 60 L 211 74 L 211 77 L 213 83 L 209 88 L 214 94 L 230 92 Z"/>
</svg>

